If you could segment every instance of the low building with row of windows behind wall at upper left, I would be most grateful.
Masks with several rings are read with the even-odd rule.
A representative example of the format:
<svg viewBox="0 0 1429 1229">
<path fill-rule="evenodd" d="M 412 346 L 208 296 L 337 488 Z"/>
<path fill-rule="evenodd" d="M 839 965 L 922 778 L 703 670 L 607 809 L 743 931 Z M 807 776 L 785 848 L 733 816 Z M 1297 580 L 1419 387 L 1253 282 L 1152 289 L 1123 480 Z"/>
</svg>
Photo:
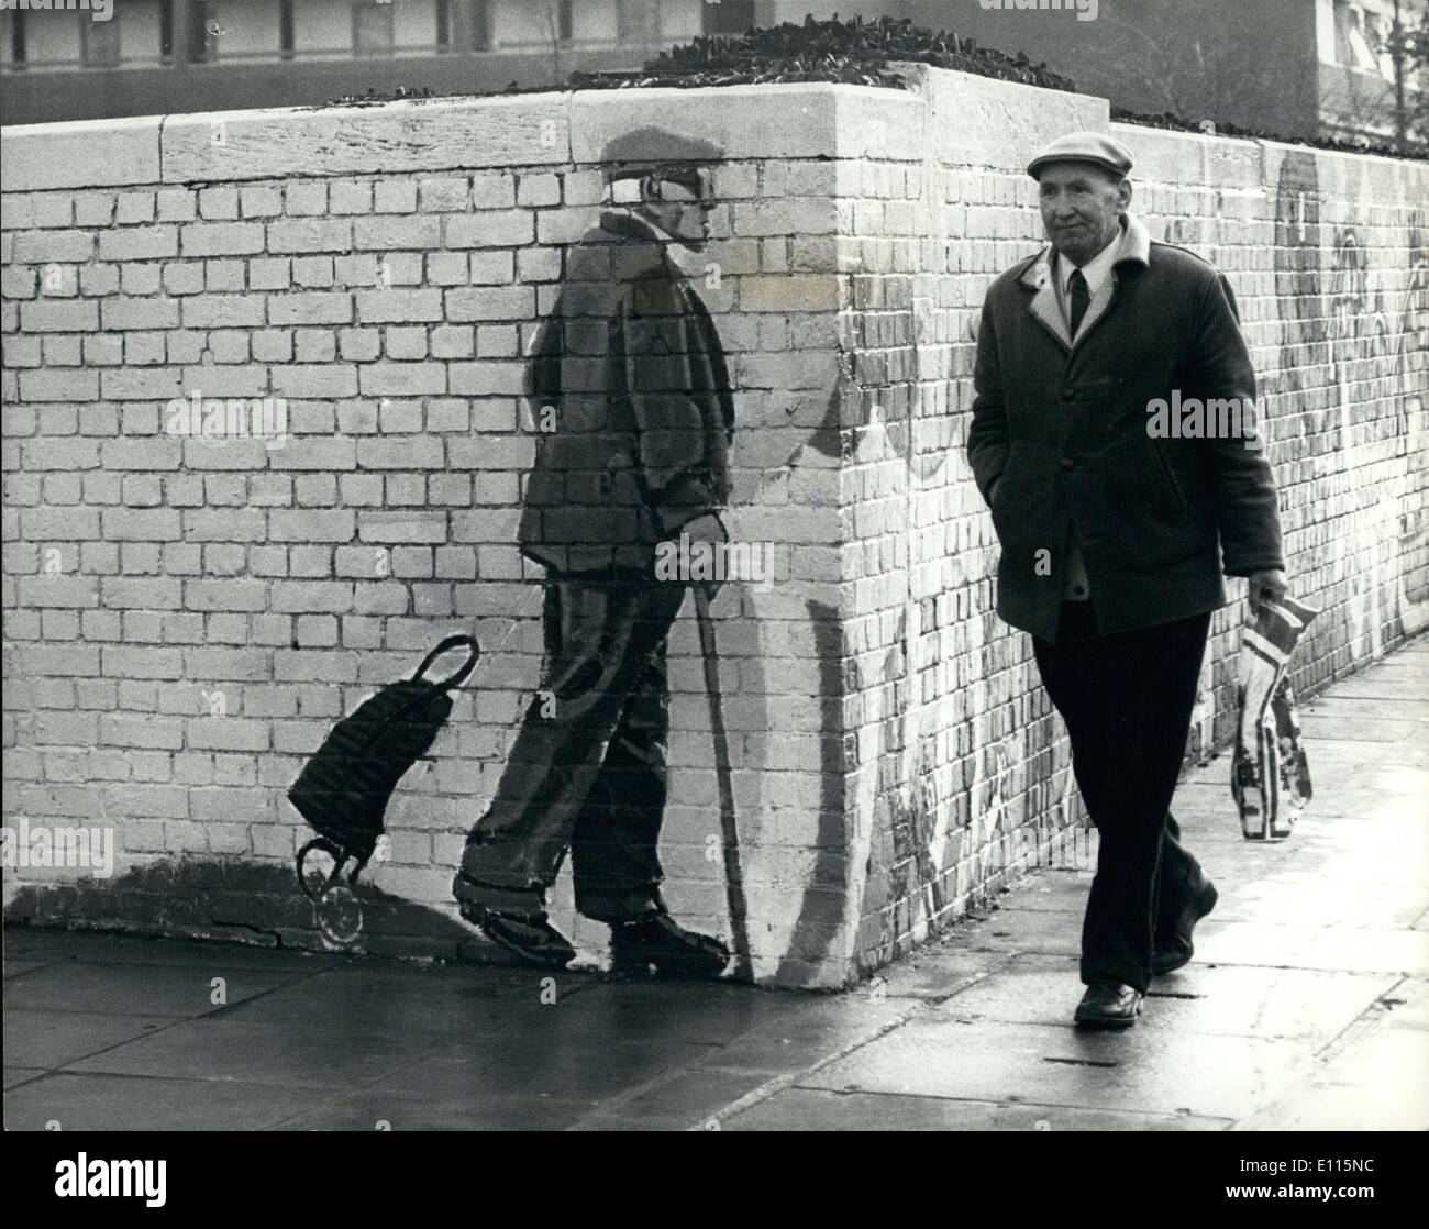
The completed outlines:
<svg viewBox="0 0 1429 1229">
<path fill-rule="evenodd" d="M 539 86 L 746 29 L 753 10 L 739 0 L 113 0 L 111 19 L 96 21 L 7 9 L 0 121 Z"/>
</svg>

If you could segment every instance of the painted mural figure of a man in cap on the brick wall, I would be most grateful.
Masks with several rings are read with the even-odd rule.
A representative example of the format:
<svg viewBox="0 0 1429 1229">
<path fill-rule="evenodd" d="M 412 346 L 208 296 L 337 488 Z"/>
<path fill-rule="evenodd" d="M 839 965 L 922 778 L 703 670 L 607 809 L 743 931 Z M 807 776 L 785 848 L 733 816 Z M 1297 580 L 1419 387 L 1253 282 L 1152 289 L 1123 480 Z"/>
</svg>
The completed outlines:
<svg viewBox="0 0 1429 1229">
<path fill-rule="evenodd" d="M 546 569 L 546 663 L 453 892 L 463 917 L 546 967 L 574 956 L 544 909 L 567 850 L 576 907 L 610 925 L 616 970 L 714 977 L 729 962 L 670 917 L 656 847 L 666 640 L 686 589 L 656 579 L 656 546 L 727 537 L 729 370 L 670 253 L 709 240 L 720 154 L 656 129 L 609 144 L 617 207 L 567 250 L 527 370 L 539 434 L 517 536 Z"/>
</svg>

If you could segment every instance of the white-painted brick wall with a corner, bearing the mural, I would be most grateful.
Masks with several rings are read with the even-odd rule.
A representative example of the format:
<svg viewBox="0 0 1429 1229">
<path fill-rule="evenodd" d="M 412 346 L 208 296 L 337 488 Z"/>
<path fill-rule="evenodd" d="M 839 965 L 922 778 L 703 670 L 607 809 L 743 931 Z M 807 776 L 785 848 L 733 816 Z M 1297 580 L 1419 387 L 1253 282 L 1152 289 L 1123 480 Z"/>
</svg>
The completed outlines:
<svg viewBox="0 0 1429 1229">
<path fill-rule="evenodd" d="M 839 985 L 906 950 L 1037 856 L 1006 837 L 1019 826 L 1040 826 L 1047 856 L 1077 819 L 1066 743 L 1026 637 L 992 614 L 996 543 L 963 443 L 982 296 L 1039 240 L 1022 163 L 1069 127 L 1105 129 L 1106 109 L 913 76 L 916 93 L 617 91 L 6 130 L 6 822 L 113 825 L 120 885 L 179 857 L 174 873 L 197 876 L 184 883 L 231 859 L 286 867 L 306 829 L 283 795 L 304 756 L 440 636 L 474 630 L 486 656 L 369 872 L 453 913 L 462 840 L 540 667 L 537 572 L 514 547 L 533 456 L 522 354 L 562 244 L 599 212 L 600 150 L 653 123 L 727 153 L 716 239 L 690 272 L 736 383 L 730 524 L 777 546 L 772 590 L 729 586 L 716 603 L 759 976 Z M 950 121 L 963 113 L 982 129 Z M 1319 176 L 1305 259 L 1320 282 L 1292 353 L 1290 274 L 1278 284 L 1270 254 L 1285 151 L 1119 136 L 1153 233 L 1229 273 L 1280 389 L 1292 567 L 1326 607 L 1296 679 L 1318 685 L 1419 626 L 1429 582 L 1423 412 L 1405 396 L 1426 383 L 1429 316 L 1413 334 L 1395 323 L 1423 303 L 1409 246 L 1429 180 L 1296 154 Z M 1358 282 L 1329 263 L 1349 232 Z M 719 286 L 702 280 L 710 262 Z M 1385 333 L 1356 332 L 1356 293 Z M 1335 369 L 1316 336 L 1339 347 Z M 290 437 L 169 437 L 164 403 L 194 389 L 287 399 Z M 1215 625 L 1213 739 L 1236 619 Z M 670 675 L 667 897 L 720 930 L 689 607 Z M 26 887 L 7 873 L 7 903 Z M 177 897 L 149 925 L 193 930 L 199 906 Z M 556 900 L 599 947 L 604 927 L 573 917 L 564 882 Z M 74 907 L 23 902 L 90 916 Z M 449 953 L 429 930 L 389 937 Z"/>
</svg>

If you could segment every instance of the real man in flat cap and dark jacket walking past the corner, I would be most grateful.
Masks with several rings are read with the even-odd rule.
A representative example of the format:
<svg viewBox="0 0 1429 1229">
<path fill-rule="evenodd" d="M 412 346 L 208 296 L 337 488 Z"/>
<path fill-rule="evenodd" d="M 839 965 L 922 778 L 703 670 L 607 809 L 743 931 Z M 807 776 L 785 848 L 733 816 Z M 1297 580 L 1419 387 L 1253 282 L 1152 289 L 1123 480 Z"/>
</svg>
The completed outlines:
<svg viewBox="0 0 1429 1229">
<path fill-rule="evenodd" d="M 1150 240 L 1130 169 L 1097 133 L 1029 163 L 1050 246 L 987 290 L 967 437 L 1002 544 L 997 613 L 1033 637 L 1100 836 L 1075 1015 L 1089 1028 L 1135 1025 L 1216 905 L 1169 807 L 1222 569 L 1249 579 L 1252 609 L 1285 593 L 1262 442 L 1149 429 L 1177 393 L 1253 422 L 1255 373 L 1225 276 Z"/>
</svg>

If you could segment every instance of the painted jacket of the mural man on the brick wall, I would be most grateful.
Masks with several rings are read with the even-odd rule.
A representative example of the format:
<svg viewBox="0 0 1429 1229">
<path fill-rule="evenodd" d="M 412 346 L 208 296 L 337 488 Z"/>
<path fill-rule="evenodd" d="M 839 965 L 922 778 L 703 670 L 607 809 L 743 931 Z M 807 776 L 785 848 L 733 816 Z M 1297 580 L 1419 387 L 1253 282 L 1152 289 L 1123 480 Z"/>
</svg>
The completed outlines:
<svg viewBox="0 0 1429 1229">
<path fill-rule="evenodd" d="M 567 250 L 527 390 L 537 452 L 517 537 L 553 573 L 649 574 L 657 542 L 727 503 L 719 336 L 642 219 L 602 214 Z"/>
</svg>

